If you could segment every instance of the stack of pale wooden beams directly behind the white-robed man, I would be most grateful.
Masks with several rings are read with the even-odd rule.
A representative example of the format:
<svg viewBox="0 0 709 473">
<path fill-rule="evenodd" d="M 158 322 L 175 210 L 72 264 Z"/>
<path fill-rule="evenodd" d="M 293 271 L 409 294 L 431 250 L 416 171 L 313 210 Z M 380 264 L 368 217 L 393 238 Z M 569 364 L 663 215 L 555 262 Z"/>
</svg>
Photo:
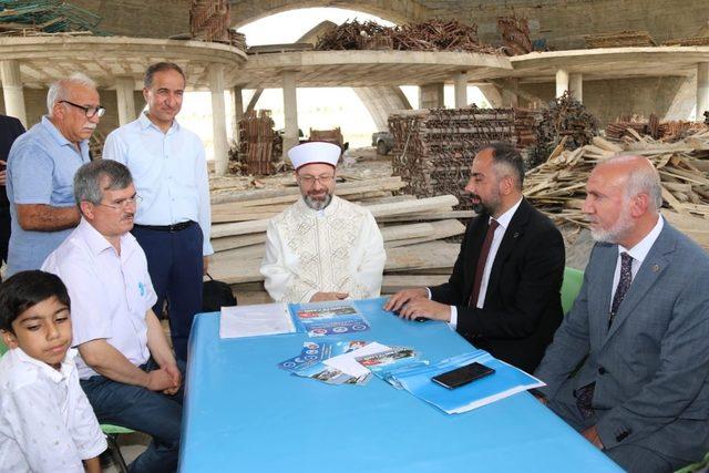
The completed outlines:
<svg viewBox="0 0 709 473">
<path fill-rule="evenodd" d="M 366 206 L 380 225 L 387 248 L 383 291 L 412 285 L 440 284 L 452 271 L 459 244 L 444 239 L 462 235 L 472 212 L 455 212 L 458 198 L 443 195 L 417 198 L 392 195 L 404 186 L 400 177 L 338 183 L 336 194 Z M 230 197 L 230 198 L 228 198 Z M 209 274 L 237 292 L 256 294 L 267 301 L 259 273 L 266 248 L 268 219 L 300 198 L 297 187 L 213 194 Z M 254 300 L 254 299 L 250 299 Z"/>
</svg>

